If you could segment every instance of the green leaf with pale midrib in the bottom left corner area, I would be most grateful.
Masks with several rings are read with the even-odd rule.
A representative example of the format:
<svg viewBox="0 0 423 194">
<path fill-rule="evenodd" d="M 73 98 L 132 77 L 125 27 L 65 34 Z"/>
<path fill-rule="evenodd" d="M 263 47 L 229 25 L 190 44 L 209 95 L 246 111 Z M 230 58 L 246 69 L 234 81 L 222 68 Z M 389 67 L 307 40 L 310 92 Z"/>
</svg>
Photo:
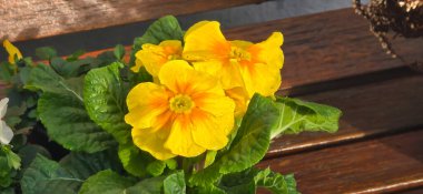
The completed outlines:
<svg viewBox="0 0 423 194">
<path fill-rule="evenodd" d="M 37 155 L 30 166 L 24 171 L 20 182 L 24 194 L 76 194 L 83 180 L 71 175 L 57 162 Z"/>
</svg>

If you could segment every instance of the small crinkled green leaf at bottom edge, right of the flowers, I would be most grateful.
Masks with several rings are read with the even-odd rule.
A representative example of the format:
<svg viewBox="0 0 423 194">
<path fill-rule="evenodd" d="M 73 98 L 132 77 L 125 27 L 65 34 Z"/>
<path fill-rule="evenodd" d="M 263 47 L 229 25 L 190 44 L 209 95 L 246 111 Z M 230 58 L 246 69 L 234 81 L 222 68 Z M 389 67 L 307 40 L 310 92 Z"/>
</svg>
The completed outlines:
<svg viewBox="0 0 423 194">
<path fill-rule="evenodd" d="M 255 175 L 254 181 L 258 187 L 265 187 L 275 194 L 299 194 L 296 190 L 296 182 L 293 174 L 284 176 L 266 169 L 259 171 Z"/>
</svg>

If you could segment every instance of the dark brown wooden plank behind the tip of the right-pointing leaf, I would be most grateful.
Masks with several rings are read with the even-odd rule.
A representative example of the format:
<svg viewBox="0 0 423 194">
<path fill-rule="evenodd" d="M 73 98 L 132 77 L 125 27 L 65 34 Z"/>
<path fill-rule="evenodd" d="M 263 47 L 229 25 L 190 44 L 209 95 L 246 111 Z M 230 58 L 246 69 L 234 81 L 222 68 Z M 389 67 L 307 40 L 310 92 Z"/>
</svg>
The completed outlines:
<svg viewBox="0 0 423 194">
<path fill-rule="evenodd" d="M 333 90 L 301 99 L 340 108 L 340 131 L 284 135 L 270 145 L 268 157 L 313 150 L 341 142 L 393 133 L 423 125 L 423 76 L 406 78 Z"/>
</svg>

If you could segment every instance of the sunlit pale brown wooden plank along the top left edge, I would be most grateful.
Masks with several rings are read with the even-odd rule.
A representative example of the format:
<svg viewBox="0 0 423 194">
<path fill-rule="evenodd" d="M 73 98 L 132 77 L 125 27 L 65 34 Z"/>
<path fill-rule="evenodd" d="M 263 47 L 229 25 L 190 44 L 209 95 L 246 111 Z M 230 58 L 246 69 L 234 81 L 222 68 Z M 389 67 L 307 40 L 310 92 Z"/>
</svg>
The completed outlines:
<svg viewBox="0 0 423 194">
<path fill-rule="evenodd" d="M 21 41 L 264 0 L 0 0 L 0 40 Z"/>
</svg>

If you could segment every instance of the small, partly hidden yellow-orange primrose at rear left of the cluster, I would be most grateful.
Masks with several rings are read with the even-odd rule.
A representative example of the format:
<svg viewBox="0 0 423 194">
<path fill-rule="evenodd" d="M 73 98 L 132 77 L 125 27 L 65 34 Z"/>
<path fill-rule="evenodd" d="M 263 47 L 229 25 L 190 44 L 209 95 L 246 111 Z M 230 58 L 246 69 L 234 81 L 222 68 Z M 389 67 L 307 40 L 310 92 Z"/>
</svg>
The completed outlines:
<svg viewBox="0 0 423 194">
<path fill-rule="evenodd" d="M 138 72 L 141 65 L 146 67 L 148 73 L 153 76 L 158 76 L 160 68 L 170 60 L 181 58 L 183 45 L 178 40 L 165 40 L 158 45 L 146 43 L 139 50 L 136 57 L 136 65 L 134 72 Z"/>
</svg>

